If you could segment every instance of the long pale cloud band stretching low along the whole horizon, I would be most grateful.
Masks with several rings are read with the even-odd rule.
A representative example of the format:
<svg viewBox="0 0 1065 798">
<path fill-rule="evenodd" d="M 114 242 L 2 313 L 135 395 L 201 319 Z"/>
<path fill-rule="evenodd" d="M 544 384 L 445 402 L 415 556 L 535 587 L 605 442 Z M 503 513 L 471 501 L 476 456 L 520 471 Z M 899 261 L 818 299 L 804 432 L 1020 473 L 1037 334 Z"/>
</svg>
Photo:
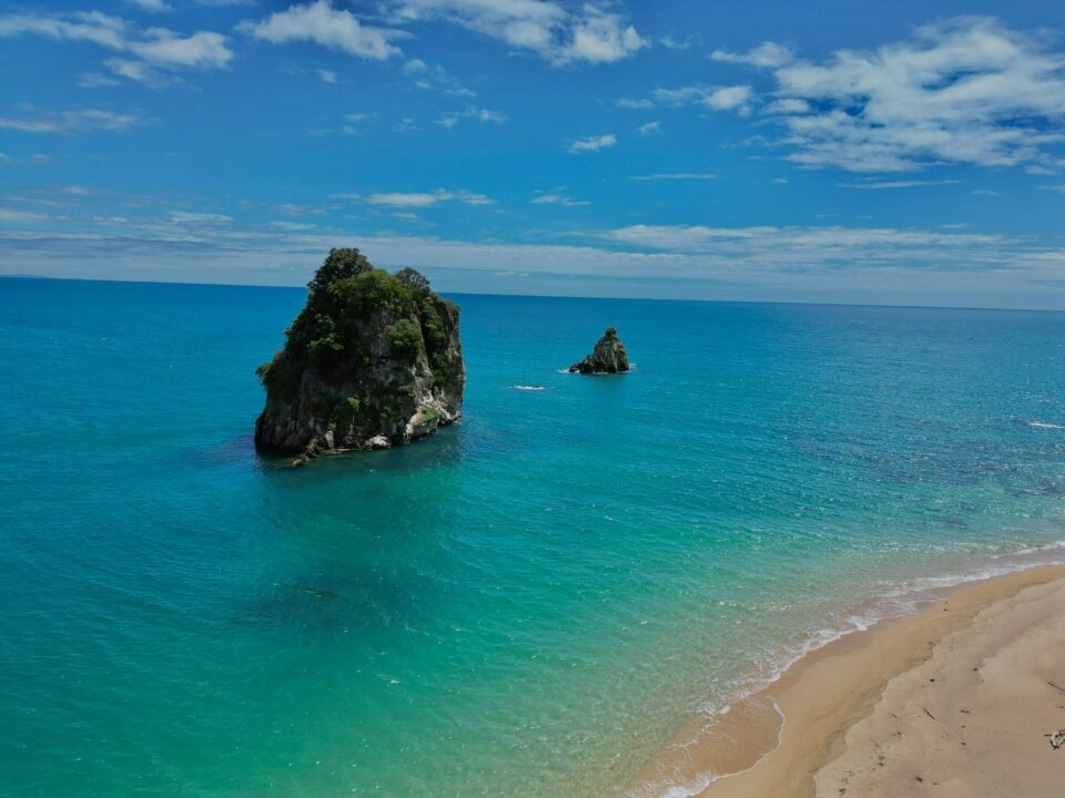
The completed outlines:
<svg viewBox="0 0 1065 798">
<path fill-rule="evenodd" d="M 396 208 L 384 209 L 394 219 Z M 527 293 L 538 294 L 572 294 L 578 286 L 594 294 L 677 298 L 955 306 L 1001 306 L 1008 298 L 1013 306 L 1059 308 L 1065 296 L 1051 289 L 1065 287 L 1061 247 L 942 229 L 626 227 L 578 234 L 584 244 L 547 245 L 316 234 L 268 224 L 90 222 L 85 229 L 0 229 L 0 263 L 68 277 L 302 285 L 320 253 L 358 246 L 377 266 L 425 269 L 444 290 L 513 291 L 514 283 L 495 282 L 505 270 L 535 277 Z"/>
</svg>

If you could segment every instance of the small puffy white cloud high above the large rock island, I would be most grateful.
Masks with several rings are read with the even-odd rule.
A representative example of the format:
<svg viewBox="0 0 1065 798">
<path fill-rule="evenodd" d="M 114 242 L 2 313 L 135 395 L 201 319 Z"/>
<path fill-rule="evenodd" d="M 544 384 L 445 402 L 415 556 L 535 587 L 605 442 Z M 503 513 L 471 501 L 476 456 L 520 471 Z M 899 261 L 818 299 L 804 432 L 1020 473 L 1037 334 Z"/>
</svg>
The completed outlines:
<svg viewBox="0 0 1065 798">
<path fill-rule="evenodd" d="M 376 61 L 398 55 L 399 49 L 392 40 L 406 35 L 397 30 L 364 25 L 351 11 L 334 8 L 329 0 L 317 0 L 307 6 L 291 6 L 262 21 L 242 22 L 240 30 L 274 44 L 314 42 Z"/>
</svg>

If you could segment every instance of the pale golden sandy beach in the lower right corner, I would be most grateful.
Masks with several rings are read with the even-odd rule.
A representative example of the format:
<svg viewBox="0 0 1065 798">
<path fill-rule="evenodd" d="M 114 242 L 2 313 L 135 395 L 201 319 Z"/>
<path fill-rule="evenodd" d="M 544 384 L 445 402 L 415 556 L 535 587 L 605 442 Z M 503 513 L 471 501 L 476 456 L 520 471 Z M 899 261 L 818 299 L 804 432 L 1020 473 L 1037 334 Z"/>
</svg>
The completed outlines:
<svg viewBox="0 0 1065 798">
<path fill-rule="evenodd" d="M 699 795 L 1051 796 L 1065 566 L 973 583 L 808 655 L 684 749 Z M 721 740 L 728 739 L 728 744 Z"/>
</svg>

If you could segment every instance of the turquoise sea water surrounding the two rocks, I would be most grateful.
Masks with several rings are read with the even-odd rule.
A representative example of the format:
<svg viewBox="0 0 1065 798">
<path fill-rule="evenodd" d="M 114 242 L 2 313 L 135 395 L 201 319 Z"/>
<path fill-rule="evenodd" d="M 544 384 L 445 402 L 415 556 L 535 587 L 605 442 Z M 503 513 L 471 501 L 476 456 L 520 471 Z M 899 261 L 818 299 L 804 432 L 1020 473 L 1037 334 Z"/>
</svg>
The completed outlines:
<svg viewBox="0 0 1065 798">
<path fill-rule="evenodd" d="M 457 296 L 463 423 L 291 470 L 303 298 L 0 280 L 6 796 L 653 795 L 804 646 L 1063 555 L 1065 315 Z M 558 371 L 608 325 L 635 372 Z"/>
</svg>

